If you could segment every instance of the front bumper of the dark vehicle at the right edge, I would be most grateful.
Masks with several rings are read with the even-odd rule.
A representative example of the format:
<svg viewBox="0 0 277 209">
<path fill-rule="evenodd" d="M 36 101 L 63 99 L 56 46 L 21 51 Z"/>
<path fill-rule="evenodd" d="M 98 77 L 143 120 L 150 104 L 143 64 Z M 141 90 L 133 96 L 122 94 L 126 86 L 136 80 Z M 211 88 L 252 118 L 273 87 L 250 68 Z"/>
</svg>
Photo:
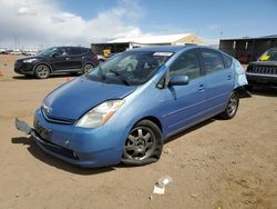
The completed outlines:
<svg viewBox="0 0 277 209">
<path fill-rule="evenodd" d="M 277 74 L 246 72 L 249 84 L 277 87 Z"/>
</svg>

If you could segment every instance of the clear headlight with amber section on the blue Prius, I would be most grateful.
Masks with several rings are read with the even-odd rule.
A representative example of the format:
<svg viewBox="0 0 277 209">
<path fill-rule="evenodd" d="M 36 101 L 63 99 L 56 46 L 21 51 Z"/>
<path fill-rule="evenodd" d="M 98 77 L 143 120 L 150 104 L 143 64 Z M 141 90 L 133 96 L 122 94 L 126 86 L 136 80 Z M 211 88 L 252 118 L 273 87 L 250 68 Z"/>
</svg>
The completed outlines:
<svg viewBox="0 0 277 209">
<path fill-rule="evenodd" d="M 95 128 L 106 123 L 106 121 L 120 109 L 124 100 L 105 101 L 89 112 L 86 112 L 76 123 L 76 127 Z"/>
</svg>

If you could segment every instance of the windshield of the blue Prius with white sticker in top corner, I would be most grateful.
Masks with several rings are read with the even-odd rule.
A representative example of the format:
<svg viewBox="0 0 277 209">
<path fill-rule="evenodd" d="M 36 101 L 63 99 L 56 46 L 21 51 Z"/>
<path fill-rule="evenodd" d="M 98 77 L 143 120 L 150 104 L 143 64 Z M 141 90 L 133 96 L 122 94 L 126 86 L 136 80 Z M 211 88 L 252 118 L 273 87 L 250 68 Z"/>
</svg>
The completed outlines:
<svg viewBox="0 0 277 209">
<path fill-rule="evenodd" d="M 119 53 L 85 74 L 90 80 L 126 86 L 148 81 L 173 52 L 126 51 Z"/>
</svg>

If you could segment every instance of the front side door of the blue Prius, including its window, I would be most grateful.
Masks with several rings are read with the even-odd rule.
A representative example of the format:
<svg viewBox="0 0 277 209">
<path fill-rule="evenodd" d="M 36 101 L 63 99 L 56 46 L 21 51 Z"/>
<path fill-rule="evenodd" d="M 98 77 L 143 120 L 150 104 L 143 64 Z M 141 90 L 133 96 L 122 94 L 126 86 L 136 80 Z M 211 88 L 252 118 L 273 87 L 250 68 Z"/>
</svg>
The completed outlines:
<svg viewBox="0 0 277 209">
<path fill-rule="evenodd" d="M 165 107 L 163 120 L 167 131 L 174 135 L 205 118 L 205 82 L 197 50 L 181 54 L 170 67 L 170 74 L 184 74 L 189 79 L 186 86 L 173 86 L 163 89 Z"/>
</svg>

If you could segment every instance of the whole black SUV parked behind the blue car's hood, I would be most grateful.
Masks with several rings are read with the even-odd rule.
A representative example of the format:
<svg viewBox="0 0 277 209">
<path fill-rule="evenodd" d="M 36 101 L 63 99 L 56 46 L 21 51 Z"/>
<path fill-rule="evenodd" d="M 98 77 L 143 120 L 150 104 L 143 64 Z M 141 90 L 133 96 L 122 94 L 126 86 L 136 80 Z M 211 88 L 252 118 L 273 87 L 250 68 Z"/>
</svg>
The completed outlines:
<svg viewBox="0 0 277 209">
<path fill-rule="evenodd" d="M 85 73 L 98 64 L 98 56 L 89 48 L 52 47 L 35 57 L 17 60 L 14 71 L 45 79 L 52 73 Z"/>
</svg>

